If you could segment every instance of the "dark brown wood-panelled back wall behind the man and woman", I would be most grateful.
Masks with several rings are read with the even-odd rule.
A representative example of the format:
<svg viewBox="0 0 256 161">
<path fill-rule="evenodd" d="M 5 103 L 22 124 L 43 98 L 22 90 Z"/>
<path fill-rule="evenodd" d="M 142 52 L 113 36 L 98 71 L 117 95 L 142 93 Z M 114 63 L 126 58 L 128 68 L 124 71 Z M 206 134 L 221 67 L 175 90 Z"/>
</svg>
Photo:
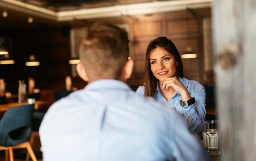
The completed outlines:
<svg viewBox="0 0 256 161">
<path fill-rule="evenodd" d="M 140 16 L 119 17 L 115 19 L 91 20 L 105 21 L 112 24 L 129 24 L 131 57 L 135 61 L 133 75 L 129 80 L 131 86 L 143 84 L 145 51 L 150 40 L 160 36 L 171 39 L 180 54 L 189 45 L 198 53 L 197 58 L 183 59 L 185 77 L 197 80 L 202 84 L 212 83 L 212 72 L 204 72 L 203 42 L 202 42 L 202 18 L 210 17 L 210 9 L 193 10 L 195 15 L 188 11 L 175 11 L 170 13 Z M 72 25 L 71 27 L 83 27 L 84 25 Z M 48 29 L 33 30 L 1 30 L 0 35 L 12 38 L 13 65 L 0 65 L 0 78 L 6 81 L 6 90 L 17 92 L 18 80 L 33 77 L 36 88 L 40 89 L 64 89 L 65 76 L 71 75 L 70 38 L 63 33 L 61 25 Z M 40 66 L 27 67 L 25 62 L 29 55 L 34 54 Z M 203 76 L 207 75 L 207 79 Z M 82 88 L 85 85 L 80 78 L 72 78 L 73 86 Z"/>
</svg>

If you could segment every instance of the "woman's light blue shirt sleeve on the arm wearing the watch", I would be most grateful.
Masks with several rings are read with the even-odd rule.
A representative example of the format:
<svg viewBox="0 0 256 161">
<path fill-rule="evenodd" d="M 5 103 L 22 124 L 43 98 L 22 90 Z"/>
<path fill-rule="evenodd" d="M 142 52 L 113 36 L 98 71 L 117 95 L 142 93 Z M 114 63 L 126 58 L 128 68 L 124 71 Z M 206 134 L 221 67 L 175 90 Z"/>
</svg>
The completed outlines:
<svg viewBox="0 0 256 161">
<path fill-rule="evenodd" d="M 188 117 L 191 118 L 189 123 L 190 130 L 198 134 L 198 136 L 201 136 L 204 130 L 206 94 L 204 86 L 199 83 L 197 83 L 192 90 L 193 91 L 189 91 L 189 93 L 191 93 L 191 97 L 195 98 L 196 103 L 183 107 L 184 116 L 186 120 Z"/>
</svg>

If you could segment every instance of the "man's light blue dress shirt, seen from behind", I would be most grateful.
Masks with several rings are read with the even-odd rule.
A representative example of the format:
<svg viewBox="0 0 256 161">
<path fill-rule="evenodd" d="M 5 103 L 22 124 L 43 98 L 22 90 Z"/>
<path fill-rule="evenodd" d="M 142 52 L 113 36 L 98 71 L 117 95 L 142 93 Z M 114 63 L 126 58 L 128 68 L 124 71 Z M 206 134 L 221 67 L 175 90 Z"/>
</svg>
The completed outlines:
<svg viewBox="0 0 256 161">
<path fill-rule="evenodd" d="M 209 156 L 168 104 L 97 80 L 54 103 L 40 126 L 44 161 L 198 161 Z"/>
</svg>

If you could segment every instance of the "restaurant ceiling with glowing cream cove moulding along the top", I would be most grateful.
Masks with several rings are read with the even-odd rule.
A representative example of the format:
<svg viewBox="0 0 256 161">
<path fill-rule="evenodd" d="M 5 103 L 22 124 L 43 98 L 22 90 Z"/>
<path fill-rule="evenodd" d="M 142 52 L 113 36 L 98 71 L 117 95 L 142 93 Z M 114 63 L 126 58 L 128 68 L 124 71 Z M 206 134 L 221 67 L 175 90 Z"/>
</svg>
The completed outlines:
<svg viewBox="0 0 256 161">
<path fill-rule="evenodd" d="M 0 27 L 19 28 L 65 24 L 97 18 L 149 15 L 211 7 L 212 0 L 0 0 Z M 27 19 L 32 17 L 33 23 Z"/>
</svg>

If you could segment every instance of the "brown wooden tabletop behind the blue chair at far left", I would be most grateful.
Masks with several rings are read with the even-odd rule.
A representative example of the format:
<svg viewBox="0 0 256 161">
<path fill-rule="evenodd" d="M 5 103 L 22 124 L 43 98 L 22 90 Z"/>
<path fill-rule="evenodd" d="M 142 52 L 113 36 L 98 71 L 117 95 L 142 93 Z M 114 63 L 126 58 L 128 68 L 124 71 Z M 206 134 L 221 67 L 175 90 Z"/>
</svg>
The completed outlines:
<svg viewBox="0 0 256 161">
<path fill-rule="evenodd" d="M 54 101 L 41 101 L 41 100 L 36 101 L 34 109 L 35 110 L 40 110 L 42 108 L 49 108 L 53 104 L 53 102 Z M 9 108 L 21 106 L 21 105 L 24 105 L 24 104 L 26 104 L 26 102 L 21 102 L 21 103 L 15 102 L 15 103 L 9 103 L 9 104 L 1 104 L 0 105 L 0 112 L 5 112 Z"/>
</svg>

